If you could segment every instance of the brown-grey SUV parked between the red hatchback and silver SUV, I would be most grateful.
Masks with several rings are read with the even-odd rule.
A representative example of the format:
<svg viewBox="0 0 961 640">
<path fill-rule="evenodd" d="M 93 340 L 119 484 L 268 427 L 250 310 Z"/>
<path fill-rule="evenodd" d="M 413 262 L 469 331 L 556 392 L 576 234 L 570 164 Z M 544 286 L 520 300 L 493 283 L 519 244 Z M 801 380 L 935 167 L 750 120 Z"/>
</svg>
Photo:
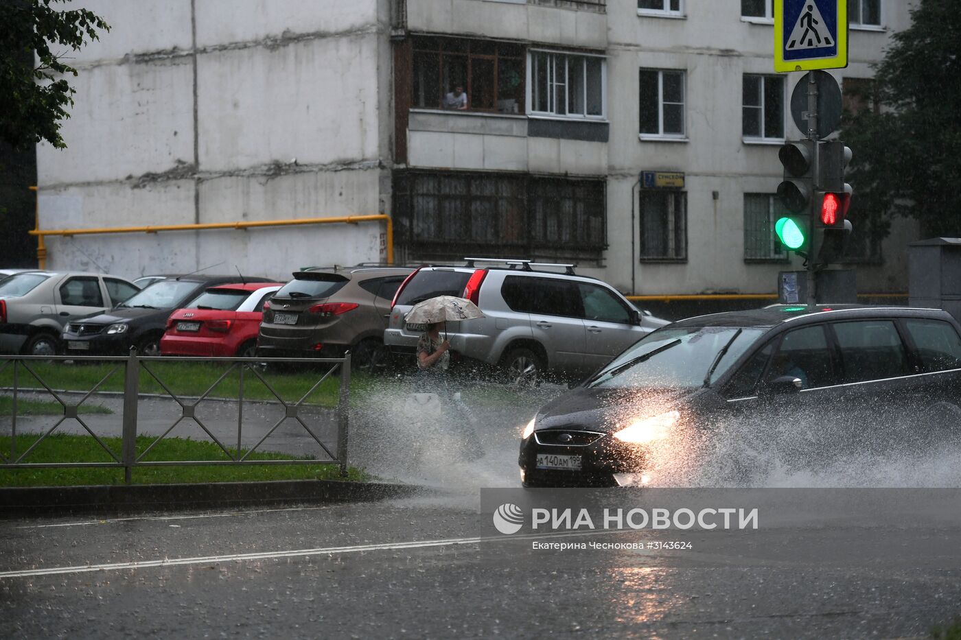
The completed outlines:
<svg viewBox="0 0 961 640">
<path fill-rule="evenodd" d="M 313 267 L 297 271 L 263 309 L 258 355 L 342 357 L 375 366 L 397 287 L 413 267 Z"/>
</svg>

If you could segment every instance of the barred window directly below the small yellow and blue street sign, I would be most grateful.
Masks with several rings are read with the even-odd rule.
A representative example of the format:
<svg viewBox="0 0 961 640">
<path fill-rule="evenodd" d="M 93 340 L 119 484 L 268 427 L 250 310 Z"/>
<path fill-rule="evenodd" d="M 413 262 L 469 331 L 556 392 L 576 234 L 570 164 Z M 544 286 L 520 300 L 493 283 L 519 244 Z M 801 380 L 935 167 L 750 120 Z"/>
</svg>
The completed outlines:
<svg viewBox="0 0 961 640">
<path fill-rule="evenodd" d="M 687 194 L 641 191 L 641 259 L 687 259 Z"/>
</svg>

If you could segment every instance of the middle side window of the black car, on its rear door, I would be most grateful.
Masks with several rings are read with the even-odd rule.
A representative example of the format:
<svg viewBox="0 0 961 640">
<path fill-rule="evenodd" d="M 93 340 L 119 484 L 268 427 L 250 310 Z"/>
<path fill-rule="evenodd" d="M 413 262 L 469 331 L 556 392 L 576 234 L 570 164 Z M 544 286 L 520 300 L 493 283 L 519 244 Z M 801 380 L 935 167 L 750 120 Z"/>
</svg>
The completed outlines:
<svg viewBox="0 0 961 640">
<path fill-rule="evenodd" d="M 834 333 L 841 347 L 845 382 L 897 378 L 907 373 L 904 346 L 891 320 L 838 322 Z"/>
</svg>

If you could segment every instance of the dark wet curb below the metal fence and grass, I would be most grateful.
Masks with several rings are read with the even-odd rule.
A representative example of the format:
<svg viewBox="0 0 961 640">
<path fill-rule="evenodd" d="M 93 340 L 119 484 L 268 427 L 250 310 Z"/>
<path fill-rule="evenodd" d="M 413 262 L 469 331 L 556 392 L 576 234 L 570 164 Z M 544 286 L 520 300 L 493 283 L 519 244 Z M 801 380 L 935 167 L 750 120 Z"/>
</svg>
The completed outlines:
<svg viewBox="0 0 961 640">
<path fill-rule="evenodd" d="M 243 505 L 363 503 L 405 498 L 421 487 L 344 480 L 270 480 L 0 488 L 0 517 L 133 513 Z"/>
</svg>

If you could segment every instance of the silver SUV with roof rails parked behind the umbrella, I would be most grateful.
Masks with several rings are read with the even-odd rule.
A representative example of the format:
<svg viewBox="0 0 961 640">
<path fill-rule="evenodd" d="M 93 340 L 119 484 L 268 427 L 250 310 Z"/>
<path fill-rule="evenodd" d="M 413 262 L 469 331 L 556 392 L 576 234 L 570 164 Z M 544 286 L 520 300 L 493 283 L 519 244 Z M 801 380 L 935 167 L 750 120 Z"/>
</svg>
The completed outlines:
<svg viewBox="0 0 961 640">
<path fill-rule="evenodd" d="M 495 262 L 503 266 L 484 266 Z M 413 354 L 425 331 L 407 325 L 407 311 L 438 295 L 467 298 L 486 316 L 449 322 L 451 349 L 502 367 L 515 382 L 548 371 L 591 373 L 668 324 L 639 311 L 609 284 L 577 275 L 574 265 L 467 258 L 466 266 L 421 267 L 398 289 L 383 333 L 395 356 Z"/>
</svg>

